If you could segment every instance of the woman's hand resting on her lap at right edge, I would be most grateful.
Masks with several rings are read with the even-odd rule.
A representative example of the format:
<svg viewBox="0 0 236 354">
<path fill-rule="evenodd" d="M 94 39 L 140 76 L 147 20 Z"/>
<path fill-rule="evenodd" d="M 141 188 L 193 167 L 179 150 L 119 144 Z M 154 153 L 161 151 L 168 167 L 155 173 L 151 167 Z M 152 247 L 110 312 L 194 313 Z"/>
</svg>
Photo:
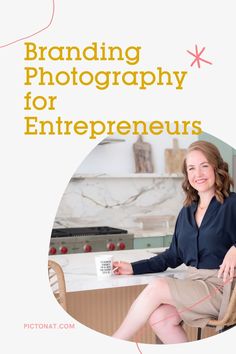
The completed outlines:
<svg viewBox="0 0 236 354">
<path fill-rule="evenodd" d="M 233 281 L 234 269 L 236 268 L 236 247 L 232 246 L 226 253 L 223 263 L 220 265 L 218 278 L 223 277 L 225 283 L 227 279 Z"/>
</svg>

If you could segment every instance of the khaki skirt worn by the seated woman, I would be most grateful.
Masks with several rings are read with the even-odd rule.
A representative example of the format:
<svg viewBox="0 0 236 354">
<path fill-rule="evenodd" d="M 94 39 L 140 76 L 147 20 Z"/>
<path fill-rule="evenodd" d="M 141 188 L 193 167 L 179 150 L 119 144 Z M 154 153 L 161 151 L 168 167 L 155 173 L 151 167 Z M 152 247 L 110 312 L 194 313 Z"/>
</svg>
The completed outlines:
<svg viewBox="0 0 236 354">
<path fill-rule="evenodd" d="M 234 282 L 224 285 L 218 271 L 188 267 L 184 279 L 166 278 L 175 307 L 189 326 L 205 327 L 210 319 L 223 318 Z"/>
</svg>

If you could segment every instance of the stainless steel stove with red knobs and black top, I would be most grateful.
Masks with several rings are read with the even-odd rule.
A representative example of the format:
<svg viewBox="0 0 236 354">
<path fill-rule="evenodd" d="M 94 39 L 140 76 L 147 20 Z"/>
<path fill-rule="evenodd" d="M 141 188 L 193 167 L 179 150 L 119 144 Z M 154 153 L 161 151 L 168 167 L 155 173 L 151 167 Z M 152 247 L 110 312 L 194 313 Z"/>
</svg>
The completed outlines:
<svg viewBox="0 0 236 354">
<path fill-rule="evenodd" d="M 118 251 L 134 248 L 134 235 L 109 226 L 53 229 L 49 254 Z"/>
</svg>

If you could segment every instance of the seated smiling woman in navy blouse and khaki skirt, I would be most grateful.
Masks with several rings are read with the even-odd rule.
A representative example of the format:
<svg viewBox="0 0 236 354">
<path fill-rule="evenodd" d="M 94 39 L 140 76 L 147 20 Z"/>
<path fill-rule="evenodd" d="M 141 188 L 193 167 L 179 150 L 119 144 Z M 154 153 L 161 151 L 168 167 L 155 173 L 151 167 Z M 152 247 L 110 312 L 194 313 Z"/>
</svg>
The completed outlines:
<svg viewBox="0 0 236 354">
<path fill-rule="evenodd" d="M 197 141 L 183 163 L 186 195 L 170 248 L 148 260 L 114 262 L 115 274 L 163 272 L 186 264 L 185 279 L 157 278 L 132 304 L 114 337 L 130 339 L 149 321 L 163 343 L 187 341 L 181 326 L 204 327 L 218 318 L 234 286 L 236 267 L 236 193 L 218 149 Z"/>
</svg>

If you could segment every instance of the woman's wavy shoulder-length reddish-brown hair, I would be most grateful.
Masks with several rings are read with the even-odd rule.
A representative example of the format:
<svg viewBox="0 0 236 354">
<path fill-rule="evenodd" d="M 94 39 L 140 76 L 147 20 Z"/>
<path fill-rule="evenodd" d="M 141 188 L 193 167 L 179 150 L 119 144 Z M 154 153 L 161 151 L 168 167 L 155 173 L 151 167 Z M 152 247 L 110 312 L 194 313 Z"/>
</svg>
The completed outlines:
<svg viewBox="0 0 236 354">
<path fill-rule="evenodd" d="M 229 175 L 228 163 L 223 160 L 217 147 L 207 141 L 199 140 L 192 143 L 186 153 L 183 161 L 182 172 L 184 174 L 184 181 L 182 188 L 185 193 L 184 205 L 189 206 L 192 202 L 199 200 L 198 192 L 194 189 L 188 181 L 188 173 L 186 166 L 186 158 L 191 151 L 201 151 L 206 157 L 209 164 L 215 171 L 215 197 L 223 203 L 224 199 L 229 196 L 230 186 L 233 186 L 233 180 Z"/>
</svg>

